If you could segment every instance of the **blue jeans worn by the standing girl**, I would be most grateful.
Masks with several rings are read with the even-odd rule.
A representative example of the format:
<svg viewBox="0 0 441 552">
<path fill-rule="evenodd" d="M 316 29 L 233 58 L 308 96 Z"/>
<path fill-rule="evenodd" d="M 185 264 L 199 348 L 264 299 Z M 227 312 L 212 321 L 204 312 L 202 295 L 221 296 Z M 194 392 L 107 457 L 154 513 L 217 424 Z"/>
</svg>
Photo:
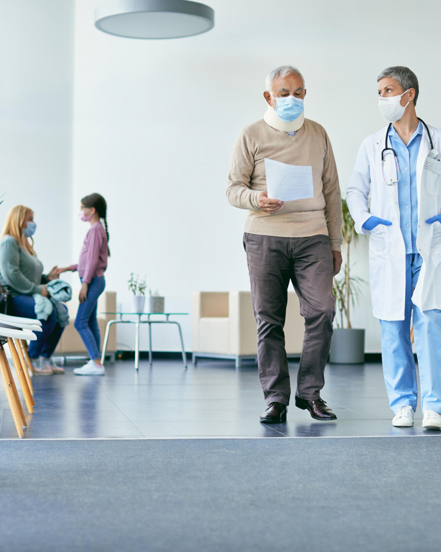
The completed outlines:
<svg viewBox="0 0 441 552">
<path fill-rule="evenodd" d="M 98 309 L 98 298 L 103 293 L 105 286 L 104 276 L 92 278 L 87 290 L 87 300 L 79 304 L 75 319 L 75 328 L 92 359 L 100 358 L 101 335 L 96 319 L 96 309 Z"/>
</svg>

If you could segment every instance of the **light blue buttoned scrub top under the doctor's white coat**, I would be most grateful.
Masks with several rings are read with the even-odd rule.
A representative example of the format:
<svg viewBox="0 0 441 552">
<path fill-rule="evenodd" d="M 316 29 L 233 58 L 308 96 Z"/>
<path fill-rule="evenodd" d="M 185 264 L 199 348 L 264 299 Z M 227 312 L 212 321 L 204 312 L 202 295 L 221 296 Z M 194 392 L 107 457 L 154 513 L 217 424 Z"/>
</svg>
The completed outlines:
<svg viewBox="0 0 441 552">
<path fill-rule="evenodd" d="M 417 199 L 417 158 L 420 151 L 423 125 L 420 121 L 407 146 L 401 140 L 393 126 L 389 130 L 389 139 L 400 165 L 398 185 L 398 205 L 400 208 L 400 228 L 404 237 L 407 253 L 418 253 L 418 199 Z"/>
</svg>

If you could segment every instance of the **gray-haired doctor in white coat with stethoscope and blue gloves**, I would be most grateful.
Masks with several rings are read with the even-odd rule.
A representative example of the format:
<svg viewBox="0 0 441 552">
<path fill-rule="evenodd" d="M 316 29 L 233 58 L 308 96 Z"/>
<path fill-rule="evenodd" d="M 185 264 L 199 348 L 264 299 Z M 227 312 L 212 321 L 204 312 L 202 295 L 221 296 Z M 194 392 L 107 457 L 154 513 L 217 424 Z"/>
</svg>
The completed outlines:
<svg viewBox="0 0 441 552">
<path fill-rule="evenodd" d="M 369 232 L 372 308 L 381 323 L 392 425 L 412 426 L 417 406 L 413 309 L 423 427 L 441 429 L 441 130 L 418 119 L 418 79 L 410 69 L 389 67 L 377 82 L 388 126 L 363 141 L 347 203 L 356 231 Z"/>
</svg>

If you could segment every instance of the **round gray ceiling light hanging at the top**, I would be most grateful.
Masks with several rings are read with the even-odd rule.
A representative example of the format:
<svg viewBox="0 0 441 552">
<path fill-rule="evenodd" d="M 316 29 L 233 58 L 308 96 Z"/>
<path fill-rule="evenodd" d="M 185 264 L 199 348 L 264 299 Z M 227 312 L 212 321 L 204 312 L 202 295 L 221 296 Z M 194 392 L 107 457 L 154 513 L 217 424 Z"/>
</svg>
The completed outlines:
<svg viewBox="0 0 441 552">
<path fill-rule="evenodd" d="M 182 38 L 212 29 L 214 10 L 187 0 L 113 0 L 95 9 L 95 26 L 125 38 Z"/>
</svg>

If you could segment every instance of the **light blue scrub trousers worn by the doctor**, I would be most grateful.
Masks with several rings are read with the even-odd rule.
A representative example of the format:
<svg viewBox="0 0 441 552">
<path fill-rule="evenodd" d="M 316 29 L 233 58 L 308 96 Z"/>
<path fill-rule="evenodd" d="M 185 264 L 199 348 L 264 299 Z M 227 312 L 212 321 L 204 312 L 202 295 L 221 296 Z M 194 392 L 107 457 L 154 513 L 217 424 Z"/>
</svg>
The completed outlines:
<svg viewBox="0 0 441 552">
<path fill-rule="evenodd" d="M 411 406 L 413 410 L 417 407 L 417 376 L 410 342 L 413 308 L 413 336 L 420 370 L 422 409 L 441 414 L 441 311 L 434 309 L 423 314 L 411 300 L 421 264 L 420 254 L 406 255 L 405 320 L 380 320 L 384 381 L 394 413 L 401 406 Z"/>
</svg>

